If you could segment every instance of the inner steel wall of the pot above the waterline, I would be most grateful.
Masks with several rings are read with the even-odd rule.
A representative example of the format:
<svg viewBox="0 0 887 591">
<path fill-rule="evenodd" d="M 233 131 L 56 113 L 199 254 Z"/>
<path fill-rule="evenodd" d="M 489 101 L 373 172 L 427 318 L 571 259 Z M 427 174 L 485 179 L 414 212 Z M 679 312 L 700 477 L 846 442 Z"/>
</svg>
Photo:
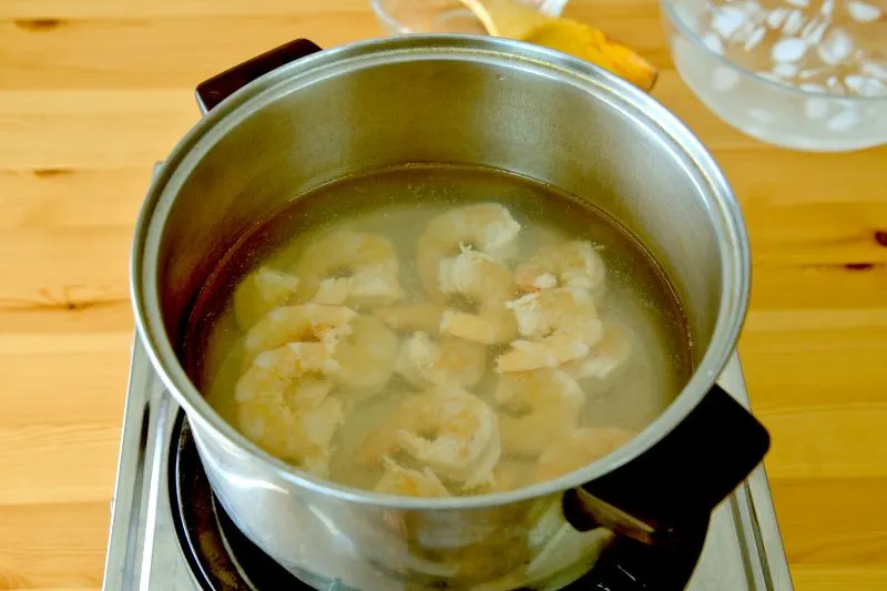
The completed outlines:
<svg viewBox="0 0 887 591">
<path fill-rule="evenodd" d="M 626 227 L 675 287 L 699 361 L 717 320 L 726 246 L 724 214 L 695 155 L 603 85 L 582 88 L 521 62 L 420 58 L 295 79 L 205 137 L 161 244 L 171 340 L 181 343 L 218 258 L 294 196 L 386 166 L 458 163 L 538 180 Z"/>
</svg>

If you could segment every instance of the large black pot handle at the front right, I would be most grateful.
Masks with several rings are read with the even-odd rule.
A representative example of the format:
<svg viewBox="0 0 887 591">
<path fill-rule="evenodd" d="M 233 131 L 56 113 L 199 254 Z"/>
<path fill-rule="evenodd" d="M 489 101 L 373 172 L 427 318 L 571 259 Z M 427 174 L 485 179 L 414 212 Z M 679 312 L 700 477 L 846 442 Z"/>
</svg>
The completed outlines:
<svg viewBox="0 0 887 591">
<path fill-rule="evenodd" d="M 714 385 L 653 447 L 564 495 L 564 517 L 580 531 L 602 526 L 648 544 L 680 542 L 768 449 L 764 426 Z"/>
</svg>

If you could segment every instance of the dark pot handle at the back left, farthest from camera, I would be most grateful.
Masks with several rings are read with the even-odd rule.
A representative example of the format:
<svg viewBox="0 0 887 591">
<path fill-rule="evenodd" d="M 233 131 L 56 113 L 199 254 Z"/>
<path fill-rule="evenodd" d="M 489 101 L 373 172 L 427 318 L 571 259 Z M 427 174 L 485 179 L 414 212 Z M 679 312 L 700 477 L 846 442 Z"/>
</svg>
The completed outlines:
<svg viewBox="0 0 887 591">
<path fill-rule="evenodd" d="M 201 82 L 195 92 L 201 112 L 207 113 L 236 90 L 272 70 L 318 51 L 320 48 L 307 39 L 296 39 Z"/>
</svg>

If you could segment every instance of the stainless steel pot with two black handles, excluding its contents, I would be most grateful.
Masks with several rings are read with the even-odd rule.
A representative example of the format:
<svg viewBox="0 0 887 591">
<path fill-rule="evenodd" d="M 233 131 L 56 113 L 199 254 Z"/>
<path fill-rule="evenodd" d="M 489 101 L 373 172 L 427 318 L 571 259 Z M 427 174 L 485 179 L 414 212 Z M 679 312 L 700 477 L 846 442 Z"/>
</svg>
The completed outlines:
<svg viewBox="0 0 887 591">
<path fill-rule="evenodd" d="M 139 332 L 239 528 L 318 589 L 339 579 L 391 591 L 557 585 L 588 569 L 611 532 L 673 543 L 707 520 L 768 437 L 714 384 L 745 315 L 748 246 L 700 142 L 630 84 L 524 43 L 422 35 L 318 49 L 297 41 L 198 88 L 210 112 L 163 166 L 133 245 Z M 226 424 L 181 361 L 185 319 L 222 253 L 294 195 L 406 162 L 516 171 L 593 201 L 633 231 L 687 313 L 696 370 L 677 399 L 575 473 L 453 499 L 336 486 Z"/>
</svg>

